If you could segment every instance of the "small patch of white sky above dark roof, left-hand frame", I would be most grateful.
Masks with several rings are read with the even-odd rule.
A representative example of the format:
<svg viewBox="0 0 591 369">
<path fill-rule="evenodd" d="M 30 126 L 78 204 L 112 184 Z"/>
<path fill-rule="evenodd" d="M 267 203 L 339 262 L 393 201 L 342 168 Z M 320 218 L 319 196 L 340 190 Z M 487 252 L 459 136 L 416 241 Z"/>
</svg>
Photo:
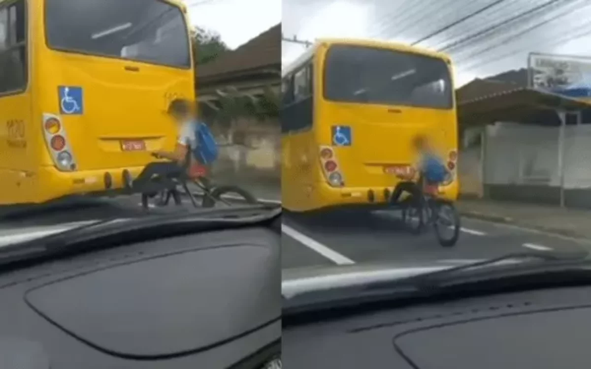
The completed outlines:
<svg viewBox="0 0 591 369">
<path fill-rule="evenodd" d="M 236 48 L 281 22 L 281 0 L 184 0 L 191 23 Z"/>
</svg>

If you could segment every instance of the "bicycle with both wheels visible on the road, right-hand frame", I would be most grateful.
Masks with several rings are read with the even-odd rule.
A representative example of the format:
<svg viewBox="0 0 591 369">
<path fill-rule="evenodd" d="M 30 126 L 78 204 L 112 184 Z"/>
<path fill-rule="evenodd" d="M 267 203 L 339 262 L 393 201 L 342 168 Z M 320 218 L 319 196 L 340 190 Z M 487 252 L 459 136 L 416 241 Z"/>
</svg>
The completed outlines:
<svg viewBox="0 0 591 369">
<path fill-rule="evenodd" d="M 423 178 L 419 178 L 417 186 L 402 203 L 402 223 L 413 234 L 420 234 L 427 226 L 432 226 L 436 233 L 437 241 L 443 247 L 452 247 L 460 237 L 460 215 L 452 201 L 437 197 L 439 186 L 434 186 L 431 191 L 425 191 Z M 417 194 L 418 198 L 417 198 Z M 416 225 L 414 224 L 416 223 Z M 445 230 L 451 230 L 451 237 L 444 237 Z"/>
</svg>

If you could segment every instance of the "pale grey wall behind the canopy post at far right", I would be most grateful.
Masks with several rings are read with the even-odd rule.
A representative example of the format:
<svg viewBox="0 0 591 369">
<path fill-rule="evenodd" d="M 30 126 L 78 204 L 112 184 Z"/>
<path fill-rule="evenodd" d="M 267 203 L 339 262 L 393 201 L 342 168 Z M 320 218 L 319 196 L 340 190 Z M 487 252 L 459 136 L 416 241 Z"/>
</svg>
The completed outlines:
<svg viewBox="0 0 591 369">
<path fill-rule="evenodd" d="M 486 129 L 483 188 L 493 200 L 591 208 L 591 125 L 567 126 L 562 178 L 559 128 L 496 123 Z"/>
</svg>

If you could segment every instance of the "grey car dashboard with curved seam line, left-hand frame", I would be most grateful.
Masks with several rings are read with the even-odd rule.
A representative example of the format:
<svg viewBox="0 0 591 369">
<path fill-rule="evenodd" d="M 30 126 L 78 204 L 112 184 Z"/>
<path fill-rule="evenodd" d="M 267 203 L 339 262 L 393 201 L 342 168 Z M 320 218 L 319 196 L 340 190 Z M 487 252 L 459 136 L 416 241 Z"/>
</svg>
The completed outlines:
<svg viewBox="0 0 591 369">
<path fill-rule="evenodd" d="M 280 241 L 216 230 L 0 273 L 0 367 L 262 368 L 281 350 Z"/>
</svg>

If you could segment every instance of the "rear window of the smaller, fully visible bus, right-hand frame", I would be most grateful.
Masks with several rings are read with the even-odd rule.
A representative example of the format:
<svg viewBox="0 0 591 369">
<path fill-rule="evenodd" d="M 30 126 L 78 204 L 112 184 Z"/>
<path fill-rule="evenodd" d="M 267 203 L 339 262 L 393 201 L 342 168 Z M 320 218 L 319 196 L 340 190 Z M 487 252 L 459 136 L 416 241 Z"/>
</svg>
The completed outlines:
<svg viewBox="0 0 591 369">
<path fill-rule="evenodd" d="M 451 109 L 446 61 L 419 54 L 350 45 L 330 47 L 324 99 L 335 102 Z"/>
</svg>

